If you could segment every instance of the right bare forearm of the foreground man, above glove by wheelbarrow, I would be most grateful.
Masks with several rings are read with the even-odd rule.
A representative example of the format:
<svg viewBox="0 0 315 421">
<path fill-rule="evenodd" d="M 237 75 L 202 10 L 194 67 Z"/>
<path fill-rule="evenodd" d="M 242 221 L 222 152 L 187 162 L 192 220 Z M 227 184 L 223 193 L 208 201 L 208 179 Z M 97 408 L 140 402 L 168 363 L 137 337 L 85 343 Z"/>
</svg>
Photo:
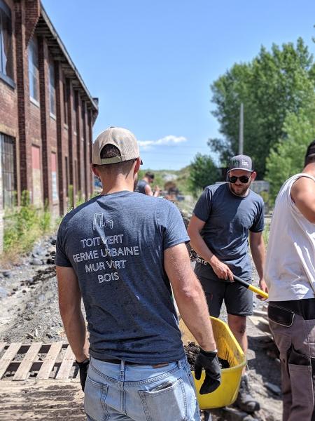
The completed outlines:
<svg viewBox="0 0 315 421">
<path fill-rule="evenodd" d="M 204 291 L 190 266 L 186 245 L 167 248 L 164 265 L 184 323 L 204 351 L 216 349 Z"/>
</svg>

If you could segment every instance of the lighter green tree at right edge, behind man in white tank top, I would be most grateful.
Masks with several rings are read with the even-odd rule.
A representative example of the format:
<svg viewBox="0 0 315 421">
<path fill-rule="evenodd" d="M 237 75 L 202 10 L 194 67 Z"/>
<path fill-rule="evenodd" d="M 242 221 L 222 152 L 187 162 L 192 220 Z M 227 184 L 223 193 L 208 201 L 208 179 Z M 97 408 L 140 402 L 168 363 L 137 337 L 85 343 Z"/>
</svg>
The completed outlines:
<svg viewBox="0 0 315 421">
<path fill-rule="evenodd" d="M 267 157 L 266 180 L 270 182 L 270 199 L 273 202 L 284 181 L 300 173 L 304 167 L 304 156 L 309 143 L 315 138 L 315 107 L 311 104 L 290 113 L 283 124 L 286 140 L 272 148 Z"/>
</svg>

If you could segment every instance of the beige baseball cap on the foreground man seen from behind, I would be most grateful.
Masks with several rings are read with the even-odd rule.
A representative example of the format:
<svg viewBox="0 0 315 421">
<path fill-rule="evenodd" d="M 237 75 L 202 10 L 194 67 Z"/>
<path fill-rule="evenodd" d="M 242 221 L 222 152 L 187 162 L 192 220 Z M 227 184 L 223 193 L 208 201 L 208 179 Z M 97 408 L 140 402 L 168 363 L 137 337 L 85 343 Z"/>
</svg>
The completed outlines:
<svg viewBox="0 0 315 421">
<path fill-rule="evenodd" d="M 101 158 L 101 151 L 105 145 L 116 146 L 120 151 L 120 156 Z M 130 159 L 139 158 L 139 156 L 140 151 L 136 136 L 127 130 L 127 128 L 106 128 L 106 130 L 97 136 L 93 144 L 92 163 L 96 165 L 130 161 Z"/>
</svg>

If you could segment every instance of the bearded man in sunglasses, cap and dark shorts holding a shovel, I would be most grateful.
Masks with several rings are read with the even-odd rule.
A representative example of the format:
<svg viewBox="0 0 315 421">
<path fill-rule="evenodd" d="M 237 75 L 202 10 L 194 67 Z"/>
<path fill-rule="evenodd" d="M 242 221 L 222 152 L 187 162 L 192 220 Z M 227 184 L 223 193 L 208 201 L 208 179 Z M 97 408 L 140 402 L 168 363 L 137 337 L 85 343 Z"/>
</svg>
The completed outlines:
<svg viewBox="0 0 315 421">
<path fill-rule="evenodd" d="M 209 312 L 218 317 L 224 300 L 228 325 L 244 354 L 248 347 L 246 316 L 253 314 L 253 296 L 250 290 L 233 282 L 233 274 L 251 282 L 248 233 L 260 288 L 267 290 L 263 277 L 264 202 L 250 189 L 255 177 L 251 158 L 234 156 L 228 182 L 204 189 L 188 225 L 190 244 L 198 254 L 195 274 L 204 288 Z M 245 368 L 236 403 L 248 413 L 260 408 L 249 392 Z"/>
</svg>

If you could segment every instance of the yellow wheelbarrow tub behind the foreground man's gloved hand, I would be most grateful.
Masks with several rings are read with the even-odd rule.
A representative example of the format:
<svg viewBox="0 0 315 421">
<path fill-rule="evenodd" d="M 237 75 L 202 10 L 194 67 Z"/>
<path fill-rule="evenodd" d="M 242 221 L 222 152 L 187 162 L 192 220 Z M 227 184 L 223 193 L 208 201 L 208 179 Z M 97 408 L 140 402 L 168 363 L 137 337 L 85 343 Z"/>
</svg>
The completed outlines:
<svg viewBox="0 0 315 421">
<path fill-rule="evenodd" d="M 199 393 L 202 382 L 204 381 L 204 370 L 200 380 L 195 379 L 195 386 L 197 390 L 197 399 L 200 409 L 222 408 L 223 406 L 231 405 L 237 399 L 239 392 L 239 384 L 241 382 L 241 372 L 246 365 L 246 357 L 242 351 L 239 343 L 232 334 L 230 328 L 224 321 L 210 317 L 212 328 L 214 330 L 214 338 L 218 347 L 218 357 L 228 361 L 230 367 L 223 368 L 221 385 L 214 392 L 201 395 Z M 183 342 L 196 342 L 193 335 L 188 328 L 180 320 L 179 327 L 183 334 Z"/>
</svg>

